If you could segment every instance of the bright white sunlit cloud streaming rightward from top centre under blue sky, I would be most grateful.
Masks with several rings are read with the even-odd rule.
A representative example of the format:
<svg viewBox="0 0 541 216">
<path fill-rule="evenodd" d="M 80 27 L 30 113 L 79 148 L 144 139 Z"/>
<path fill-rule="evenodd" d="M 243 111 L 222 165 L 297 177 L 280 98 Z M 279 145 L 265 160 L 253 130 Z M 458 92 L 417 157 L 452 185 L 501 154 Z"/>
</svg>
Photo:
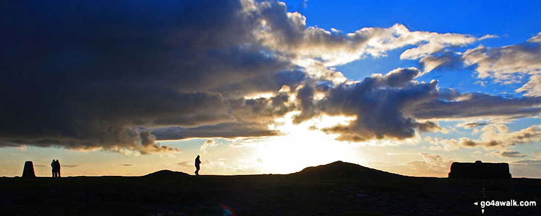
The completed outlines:
<svg viewBox="0 0 541 216">
<path fill-rule="evenodd" d="M 480 39 L 458 33 L 410 31 L 402 24 L 390 28 L 362 28 L 352 33 L 327 31 L 306 26 L 306 17 L 286 12 L 286 5 L 256 4 L 266 22 L 257 37 L 263 45 L 291 53 L 296 59 L 320 59 L 326 66 L 342 65 L 353 60 L 384 56 L 387 51 L 414 45 L 401 59 L 423 58 L 447 46 L 464 46 Z"/>
</svg>

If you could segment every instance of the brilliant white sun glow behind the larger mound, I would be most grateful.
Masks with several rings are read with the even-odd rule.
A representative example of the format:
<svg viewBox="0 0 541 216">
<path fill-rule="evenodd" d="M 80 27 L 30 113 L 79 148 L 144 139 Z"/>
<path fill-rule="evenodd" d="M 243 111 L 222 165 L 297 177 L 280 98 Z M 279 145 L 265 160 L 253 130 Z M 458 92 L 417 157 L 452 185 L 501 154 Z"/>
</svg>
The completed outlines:
<svg viewBox="0 0 541 216">
<path fill-rule="evenodd" d="M 326 134 L 319 127 L 335 124 L 347 124 L 355 117 L 322 116 L 295 125 L 291 119 L 299 112 L 290 112 L 285 117 L 275 120 L 271 129 L 285 135 L 266 139 L 239 141 L 249 146 L 253 161 L 263 173 L 292 173 L 307 166 L 315 166 L 342 160 L 361 163 L 365 158 L 358 143 L 335 140 L 337 135 Z"/>
</svg>

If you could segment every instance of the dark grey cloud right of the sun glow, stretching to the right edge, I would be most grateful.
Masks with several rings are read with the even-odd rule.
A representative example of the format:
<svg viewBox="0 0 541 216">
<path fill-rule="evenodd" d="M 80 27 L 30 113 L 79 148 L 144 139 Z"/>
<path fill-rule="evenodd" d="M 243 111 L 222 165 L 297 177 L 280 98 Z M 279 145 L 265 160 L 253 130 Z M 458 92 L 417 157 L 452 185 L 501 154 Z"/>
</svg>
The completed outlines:
<svg viewBox="0 0 541 216">
<path fill-rule="evenodd" d="M 437 82 L 414 81 L 419 74 L 420 71 L 414 68 L 397 69 L 385 76 L 372 75 L 359 83 L 332 87 L 325 98 L 317 103 L 318 108 L 327 114 L 345 114 L 357 116 L 357 119 L 349 125 L 335 125 L 322 131 L 338 133 L 339 140 L 348 141 L 404 139 L 413 137 L 415 129 L 420 132 L 444 130 L 430 119 L 522 118 L 541 113 L 540 97 L 460 93 L 452 89 L 439 89 Z M 468 126 L 474 125 L 480 126 L 481 123 Z M 499 140 L 474 141 L 467 138 L 455 143 L 461 146 L 502 145 Z"/>
</svg>

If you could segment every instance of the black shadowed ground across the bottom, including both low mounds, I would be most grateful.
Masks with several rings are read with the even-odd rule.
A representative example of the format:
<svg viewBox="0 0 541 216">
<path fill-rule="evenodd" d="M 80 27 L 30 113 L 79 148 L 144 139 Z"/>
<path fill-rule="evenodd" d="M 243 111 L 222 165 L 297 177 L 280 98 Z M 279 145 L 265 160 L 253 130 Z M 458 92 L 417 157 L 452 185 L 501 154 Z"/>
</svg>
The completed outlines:
<svg viewBox="0 0 541 216">
<path fill-rule="evenodd" d="M 484 188 L 484 193 L 481 192 Z M 342 162 L 288 175 L 0 178 L 0 215 L 541 215 L 541 179 L 415 178 Z"/>
</svg>

